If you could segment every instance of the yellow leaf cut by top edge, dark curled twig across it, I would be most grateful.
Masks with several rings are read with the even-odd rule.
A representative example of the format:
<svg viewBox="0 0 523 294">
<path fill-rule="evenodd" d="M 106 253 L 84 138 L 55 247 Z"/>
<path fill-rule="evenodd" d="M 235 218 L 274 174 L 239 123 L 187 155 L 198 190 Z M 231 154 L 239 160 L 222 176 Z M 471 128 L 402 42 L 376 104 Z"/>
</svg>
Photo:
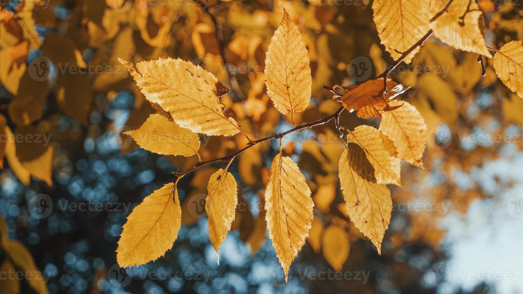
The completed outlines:
<svg viewBox="0 0 523 294">
<path fill-rule="evenodd" d="M 437 15 L 448 4 L 448 0 L 432 1 L 430 11 Z M 430 23 L 434 36 L 450 46 L 491 58 L 486 49 L 479 19 L 483 12 L 475 1 L 453 1 L 447 10 Z"/>
</svg>

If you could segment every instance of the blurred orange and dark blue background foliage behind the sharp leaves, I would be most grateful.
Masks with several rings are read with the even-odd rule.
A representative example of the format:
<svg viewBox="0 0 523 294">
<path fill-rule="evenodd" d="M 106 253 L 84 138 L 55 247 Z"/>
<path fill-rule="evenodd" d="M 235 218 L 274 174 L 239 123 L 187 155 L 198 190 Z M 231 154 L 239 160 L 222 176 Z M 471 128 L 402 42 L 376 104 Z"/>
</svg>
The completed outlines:
<svg viewBox="0 0 523 294">
<path fill-rule="evenodd" d="M 117 59 L 137 62 L 170 56 L 202 65 L 231 89 L 222 97 L 226 111 L 235 115 L 249 137 L 264 138 L 291 128 L 290 117 L 272 107 L 264 75 L 265 52 L 282 8 L 301 29 L 309 50 L 313 97 L 307 110 L 294 115 L 297 123 L 306 123 L 339 107 L 322 85 L 357 84 L 392 63 L 379 44 L 371 4 L 367 0 L 2 2 L 0 126 L 15 135 L 51 135 L 51 143 L 6 146 L 0 213 L 9 238 L 27 247 L 35 266 L 46 273 L 49 292 L 423 293 L 445 289 L 482 293 L 504 289 L 492 281 L 435 288 L 440 285 L 427 279 L 433 264 L 448 261 L 452 265 L 448 258 L 458 248 L 452 246 L 470 229 L 467 212 L 471 206 L 487 219 L 493 207 L 505 209 L 505 195 L 520 181 L 514 171 L 522 160 L 521 140 L 466 140 L 469 134 L 520 134 L 521 98 L 496 79 L 491 60 L 485 59 L 482 77 L 477 55 L 454 50 L 434 38 L 410 66 L 401 65 L 391 76 L 412 87 L 401 99 L 420 111 L 429 137 L 425 170 L 405 164 L 403 187 L 392 190 L 397 209 L 381 256 L 346 214 L 337 177 L 343 144 L 329 123 L 283 140 L 283 153 L 299 163 L 315 202 L 311 236 L 291 266 L 287 284 L 281 281 L 281 269 L 278 272 L 263 209 L 267 166 L 278 152 L 277 141 L 249 149 L 229 168 L 238 181 L 240 206 L 220 250 L 219 265 L 209 242 L 207 218 L 200 211 L 208 178 L 221 166 L 215 164 L 185 176 L 178 184 L 183 226 L 173 249 L 154 263 L 118 272 L 132 279 L 122 280 L 111 273 L 118 269 L 116 244 L 130 212 L 124 208 L 132 208 L 172 182 L 171 172 L 185 171 L 197 162 L 196 156 L 144 151 L 120 135 L 137 129 L 156 110 Z M 521 3 L 481 0 L 479 4 L 487 44 L 499 48 L 523 39 Z M 42 58 L 49 66 L 43 80 L 31 72 L 41 64 L 34 61 Z M 359 69 L 367 75 L 363 80 L 357 73 L 361 65 Z M 348 112 L 340 118 L 340 124 L 349 129 L 363 123 L 378 126 L 378 120 L 364 121 Z M 203 136 L 200 154 L 209 160 L 229 155 L 245 143 L 241 135 Z M 53 205 L 45 218 L 32 211 L 32 201 L 41 200 L 41 195 L 48 195 Z M 73 202 L 115 207 L 63 208 L 64 203 Z M 400 203 L 429 203 L 433 208 L 400 209 Z M 478 212 L 476 206 L 481 204 L 477 203 L 487 203 L 488 208 Z M 516 224 L 509 222 L 508 231 L 521 232 L 510 230 Z M 456 232 L 456 227 L 462 230 Z M 339 246 L 350 247 L 348 258 L 338 254 Z M 3 247 L 0 256 L 6 266 L 16 257 L 8 245 Z M 208 280 L 140 276 L 167 270 L 208 273 Z M 361 272 L 369 277 L 366 281 L 302 278 L 307 270 Z M 20 287 L 21 293 L 35 291 L 26 280 Z"/>
</svg>

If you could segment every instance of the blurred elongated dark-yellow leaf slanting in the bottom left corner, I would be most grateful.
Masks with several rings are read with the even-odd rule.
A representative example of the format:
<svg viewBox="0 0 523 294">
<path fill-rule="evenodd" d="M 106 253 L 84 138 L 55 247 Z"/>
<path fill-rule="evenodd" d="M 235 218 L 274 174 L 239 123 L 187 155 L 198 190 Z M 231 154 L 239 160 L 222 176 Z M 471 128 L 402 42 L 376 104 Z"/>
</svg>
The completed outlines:
<svg viewBox="0 0 523 294">
<path fill-rule="evenodd" d="M 31 278 L 26 279 L 27 284 L 39 294 L 49 294 L 46 278 L 35 264 L 35 260 L 24 244 L 17 240 L 9 241 L 9 257 L 16 268 Z"/>
</svg>

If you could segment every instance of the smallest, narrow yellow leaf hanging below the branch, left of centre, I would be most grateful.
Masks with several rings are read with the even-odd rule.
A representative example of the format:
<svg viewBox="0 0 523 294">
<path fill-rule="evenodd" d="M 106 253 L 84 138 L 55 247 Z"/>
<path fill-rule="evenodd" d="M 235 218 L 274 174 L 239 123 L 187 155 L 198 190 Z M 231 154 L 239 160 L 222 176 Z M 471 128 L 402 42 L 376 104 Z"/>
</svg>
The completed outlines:
<svg viewBox="0 0 523 294">
<path fill-rule="evenodd" d="M 205 210 L 209 216 L 209 238 L 218 254 L 218 249 L 231 229 L 238 205 L 236 180 L 227 169 L 220 168 L 211 175 L 207 191 L 209 195 Z"/>
</svg>

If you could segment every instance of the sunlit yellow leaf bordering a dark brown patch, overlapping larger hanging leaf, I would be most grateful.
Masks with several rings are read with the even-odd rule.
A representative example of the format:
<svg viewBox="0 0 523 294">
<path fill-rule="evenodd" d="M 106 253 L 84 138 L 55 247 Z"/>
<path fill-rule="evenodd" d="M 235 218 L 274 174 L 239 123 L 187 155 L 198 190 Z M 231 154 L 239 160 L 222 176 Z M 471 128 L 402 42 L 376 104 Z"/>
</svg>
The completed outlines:
<svg viewBox="0 0 523 294">
<path fill-rule="evenodd" d="M 365 151 L 367 159 L 374 168 L 374 177 L 378 184 L 401 186 L 400 159 L 390 155 L 380 133 L 376 128 L 359 126 L 347 134 L 347 142 L 356 143 Z"/>
</svg>

